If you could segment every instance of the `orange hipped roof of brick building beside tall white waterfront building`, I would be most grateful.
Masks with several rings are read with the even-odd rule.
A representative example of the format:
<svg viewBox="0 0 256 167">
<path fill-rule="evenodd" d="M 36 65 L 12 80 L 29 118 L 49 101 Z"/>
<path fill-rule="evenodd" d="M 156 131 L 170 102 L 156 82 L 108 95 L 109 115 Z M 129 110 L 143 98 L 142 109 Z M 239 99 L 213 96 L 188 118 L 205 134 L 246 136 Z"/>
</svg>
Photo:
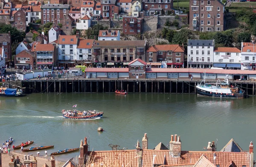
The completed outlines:
<svg viewBox="0 0 256 167">
<path fill-rule="evenodd" d="M 167 45 L 153 45 L 146 52 L 157 52 L 157 51 L 173 51 L 173 52 L 184 52 L 184 49 L 178 44 L 167 44 Z"/>
</svg>

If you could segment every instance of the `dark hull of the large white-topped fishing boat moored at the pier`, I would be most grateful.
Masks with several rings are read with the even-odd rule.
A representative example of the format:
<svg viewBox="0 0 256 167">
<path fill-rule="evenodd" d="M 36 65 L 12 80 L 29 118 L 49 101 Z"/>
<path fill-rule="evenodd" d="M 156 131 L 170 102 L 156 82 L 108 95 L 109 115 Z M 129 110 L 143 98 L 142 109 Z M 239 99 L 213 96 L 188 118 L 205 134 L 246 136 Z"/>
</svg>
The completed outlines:
<svg viewBox="0 0 256 167">
<path fill-rule="evenodd" d="M 243 99 L 244 93 L 216 93 L 200 89 L 196 87 L 196 92 L 198 96 L 207 96 L 207 97 L 218 97 L 218 98 L 233 98 L 233 99 Z M 232 95 L 233 94 L 233 95 Z"/>
</svg>

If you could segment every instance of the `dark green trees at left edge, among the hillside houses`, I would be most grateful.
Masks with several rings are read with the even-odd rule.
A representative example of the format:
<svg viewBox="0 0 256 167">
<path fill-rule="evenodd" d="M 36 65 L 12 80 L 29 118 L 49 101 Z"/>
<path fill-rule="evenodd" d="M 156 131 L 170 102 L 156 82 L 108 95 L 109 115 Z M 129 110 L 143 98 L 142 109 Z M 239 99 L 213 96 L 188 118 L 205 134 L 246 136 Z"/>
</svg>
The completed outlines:
<svg viewBox="0 0 256 167">
<path fill-rule="evenodd" d="M 10 31 L 12 42 L 21 42 L 25 37 L 25 32 L 18 31 L 16 27 L 12 27 L 10 24 L 0 23 L 0 34 L 8 34 Z"/>
</svg>

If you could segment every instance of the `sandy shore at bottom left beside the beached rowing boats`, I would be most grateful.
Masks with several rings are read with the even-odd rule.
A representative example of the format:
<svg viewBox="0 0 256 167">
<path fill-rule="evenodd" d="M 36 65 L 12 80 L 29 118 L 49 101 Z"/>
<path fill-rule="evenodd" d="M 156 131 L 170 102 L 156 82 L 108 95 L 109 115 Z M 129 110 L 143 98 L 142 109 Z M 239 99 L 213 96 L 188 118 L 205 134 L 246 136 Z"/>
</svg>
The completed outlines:
<svg viewBox="0 0 256 167">
<path fill-rule="evenodd" d="M 6 153 L 2 153 L 2 166 L 3 167 L 9 167 L 9 162 L 11 161 L 11 158 L 12 156 L 11 155 L 14 155 L 15 156 L 15 159 L 17 156 L 19 156 L 19 159 L 21 161 L 21 163 L 24 162 L 24 155 L 31 155 L 29 153 L 15 153 L 13 152 L 13 150 L 11 150 L 11 153 L 10 153 L 10 156 L 8 156 Z M 36 160 L 37 160 L 37 166 L 38 167 L 43 167 L 44 164 L 47 164 L 49 167 L 51 167 L 51 161 L 50 161 L 50 156 L 37 156 L 37 155 L 33 155 L 36 157 Z M 33 159 L 31 156 L 30 159 Z M 62 162 L 62 161 L 58 161 L 58 167 L 62 167 L 63 165 L 65 164 L 65 162 Z M 57 166 L 57 162 L 55 160 L 55 166 Z"/>
</svg>

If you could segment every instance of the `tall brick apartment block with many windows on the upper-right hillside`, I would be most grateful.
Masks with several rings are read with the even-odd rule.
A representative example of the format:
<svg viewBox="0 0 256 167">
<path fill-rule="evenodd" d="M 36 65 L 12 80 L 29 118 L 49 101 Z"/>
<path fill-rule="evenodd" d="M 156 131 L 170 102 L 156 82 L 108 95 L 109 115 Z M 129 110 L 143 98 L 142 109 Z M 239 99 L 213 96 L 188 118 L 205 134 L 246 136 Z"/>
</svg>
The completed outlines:
<svg viewBox="0 0 256 167">
<path fill-rule="evenodd" d="M 190 0 L 189 29 L 194 31 L 223 31 L 224 4 L 219 0 Z"/>
</svg>

